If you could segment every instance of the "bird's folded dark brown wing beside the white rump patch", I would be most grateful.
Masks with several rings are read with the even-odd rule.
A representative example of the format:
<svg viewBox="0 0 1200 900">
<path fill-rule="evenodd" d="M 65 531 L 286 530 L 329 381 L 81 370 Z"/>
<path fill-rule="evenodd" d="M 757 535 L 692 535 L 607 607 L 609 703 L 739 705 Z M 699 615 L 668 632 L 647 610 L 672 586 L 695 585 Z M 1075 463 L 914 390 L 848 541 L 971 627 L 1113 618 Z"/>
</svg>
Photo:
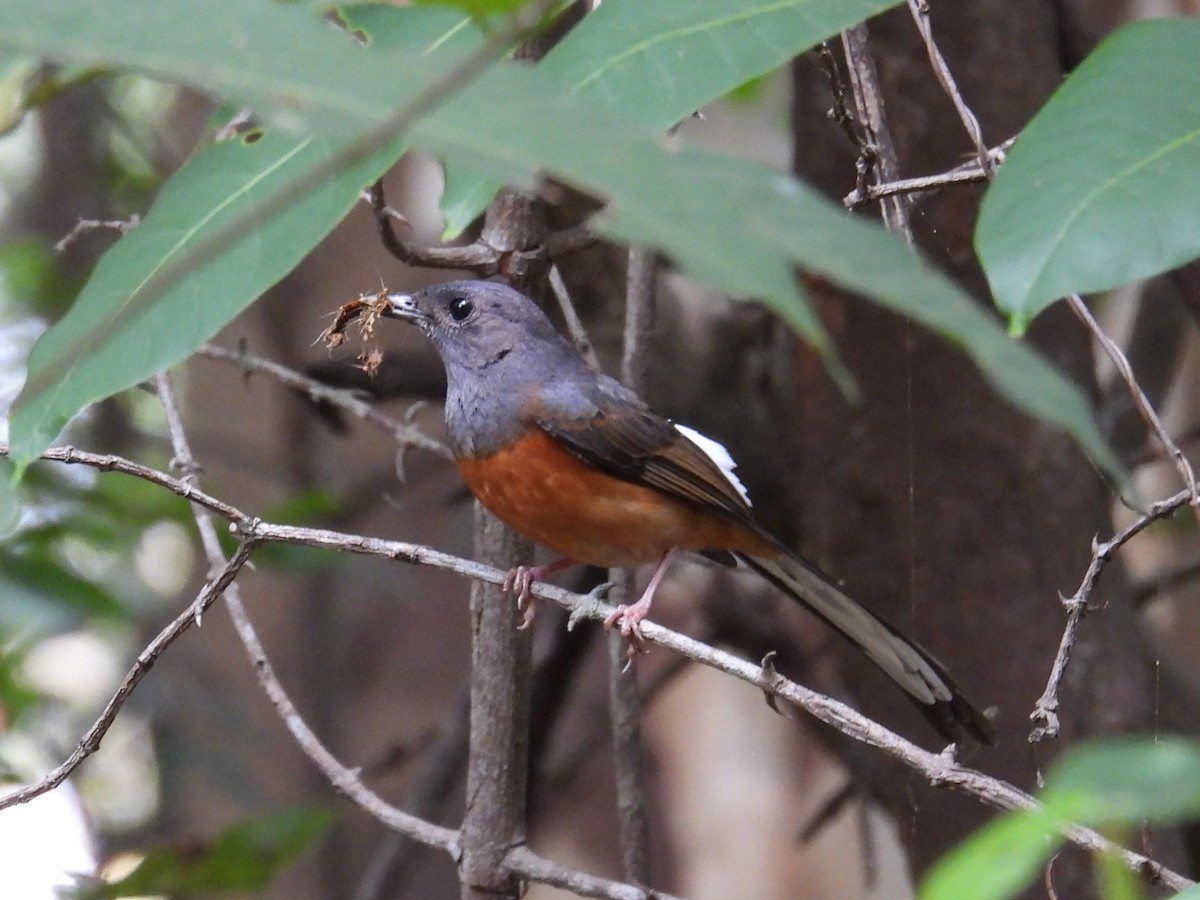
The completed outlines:
<svg viewBox="0 0 1200 900">
<path fill-rule="evenodd" d="M 544 408 L 534 424 L 604 472 L 719 510 L 757 530 L 750 504 L 703 449 L 632 394 L 618 392 L 616 383 L 601 386 L 606 390 L 592 397 L 586 414 Z"/>
</svg>

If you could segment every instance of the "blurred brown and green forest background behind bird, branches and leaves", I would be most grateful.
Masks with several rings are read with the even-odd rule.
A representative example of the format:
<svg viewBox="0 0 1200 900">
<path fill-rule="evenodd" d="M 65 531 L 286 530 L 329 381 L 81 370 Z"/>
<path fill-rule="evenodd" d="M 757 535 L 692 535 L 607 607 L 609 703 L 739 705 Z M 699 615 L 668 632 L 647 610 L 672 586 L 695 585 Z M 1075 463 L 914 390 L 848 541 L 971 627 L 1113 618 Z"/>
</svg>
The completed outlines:
<svg viewBox="0 0 1200 900">
<path fill-rule="evenodd" d="M 1118 22 L 1195 12 L 1165 1 L 994 6 L 938 5 L 935 17 L 942 50 L 991 145 L 1016 133 L 1062 73 Z M 965 139 L 947 125 L 953 110 L 930 78 L 907 13 L 872 20 L 871 32 L 905 174 L 962 161 Z M 1020 66 L 1014 46 L 1024 48 Z M 0 98 L 34 74 L 46 73 L 7 62 Z M 144 212 L 212 113 L 205 98 L 144 78 L 59 74 L 49 100 L 0 121 L 5 404 L 19 389 L 32 341 L 70 306 L 116 233 L 88 230 L 55 245 L 80 218 Z M 809 54 L 704 109 L 684 124 L 680 139 L 792 169 L 840 198 L 854 185 L 856 150 L 824 115 L 830 102 L 829 80 Z M 389 199 L 418 244 L 438 240 L 440 179 L 436 161 L 420 156 L 388 175 Z M 982 286 L 970 254 L 978 194 L 968 187 L 923 196 L 913 215 L 926 252 L 973 288 Z M 578 222 L 587 210 L 569 191 L 547 191 L 547 198 L 558 224 Z M 624 266 L 625 251 L 606 246 L 560 260 L 608 372 L 620 354 Z M 380 282 L 406 290 L 448 277 L 391 258 L 362 204 L 214 343 L 376 397 L 390 415 L 410 416 L 437 438 L 439 368 L 418 335 L 383 323 L 376 337 L 385 362 L 374 378 L 356 367 L 355 341 L 328 352 L 317 338 L 341 304 Z M 1110 492 L 1066 438 L 1004 406 L 952 348 L 811 281 L 863 388 L 862 404 L 848 404 L 815 355 L 767 312 L 714 295 L 668 264 L 658 281 L 652 402 L 726 443 L 764 523 L 926 643 L 972 697 L 998 708 L 1001 746 L 968 762 L 1031 788 L 1054 754 L 1028 748 L 1025 732 L 1061 632 L 1057 598 L 1076 588 L 1092 536 L 1111 533 L 1129 514 L 1110 505 Z M 1198 286 L 1192 268 L 1100 304 L 1181 442 L 1196 437 Z M 1060 313 L 1040 318 L 1033 340 L 1092 385 L 1145 496 L 1174 493 L 1174 469 L 1147 443 L 1124 389 Z M 443 458 L 401 454 L 366 422 L 228 361 L 196 358 L 173 378 L 210 493 L 271 522 L 470 554 L 472 502 Z M 150 391 L 89 409 L 61 443 L 162 469 L 172 456 Z M 28 497 L 20 532 L 0 546 L 0 764 L 25 781 L 74 746 L 138 650 L 206 575 L 187 509 L 161 490 L 41 464 L 30 473 Z M 1194 522 L 1154 526 L 1122 563 L 1128 577 L 1105 575 L 1109 605 L 1088 619 L 1073 664 L 1064 743 L 1118 730 L 1196 730 L 1189 706 L 1200 665 Z M 586 588 L 589 576 L 562 583 Z M 361 767 L 364 781 L 390 802 L 457 826 L 468 583 L 295 547 L 258 553 L 240 583 L 282 682 L 338 758 Z M 754 578 L 677 564 L 655 610 L 664 624 L 751 659 L 780 650 L 787 674 L 918 743 L 935 743 L 877 673 Z M 601 632 L 593 624 L 566 632 L 564 616 L 544 608 L 535 654 L 530 842 L 619 877 Z M 986 815 L 798 713 L 772 712 L 745 685 L 661 650 L 641 656 L 637 668 L 647 694 L 658 886 L 692 898 L 904 896 L 912 868 Z M 335 797 L 257 686 L 220 604 L 164 654 L 72 782 L 91 836 L 90 847 L 80 838 L 72 845 L 78 852 L 61 863 L 71 871 L 86 868 L 89 854 L 108 871 L 163 847 L 203 856 L 228 829 L 258 823 L 295 852 L 252 895 L 366 900 L 458 890 L 444 854 L 409 846 Z M 60 805 L 54 815 L 78 815 L 74 804 Z M 0 826 L 8 816 L 0 814 Z M 66 828 L 52 832 L 62 846 Z M 1186 838 L 1172 838 L 1166 853 L 1184 853 Z M 0 858 L 6 844 L 0 839 Z M 4 889 L 4 877 L 0 870 L 0 894 L 18 896 Z"/>
</svg>

